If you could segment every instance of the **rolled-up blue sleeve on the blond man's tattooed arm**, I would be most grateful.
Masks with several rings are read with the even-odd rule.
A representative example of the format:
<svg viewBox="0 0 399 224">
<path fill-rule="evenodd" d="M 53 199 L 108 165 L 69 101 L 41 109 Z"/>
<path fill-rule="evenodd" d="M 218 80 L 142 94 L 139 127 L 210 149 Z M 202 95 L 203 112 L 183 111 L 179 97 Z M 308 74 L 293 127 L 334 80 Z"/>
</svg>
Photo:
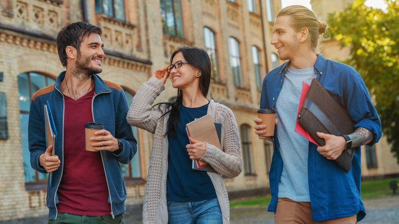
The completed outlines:
<svg viewBox="0 0 399 224">
<path fill-rule="evenodd" d="M 345 107 L 349 116 L 356 122 L 355 128 L 364 127 L 373 133 L 374 139 L 368 144 L 371 146 L 382 136 L 380 117 L 359 73 L 351 68 L 351 75 L 346 79 L 346 83 L 343 95 Z"/>
</svg>

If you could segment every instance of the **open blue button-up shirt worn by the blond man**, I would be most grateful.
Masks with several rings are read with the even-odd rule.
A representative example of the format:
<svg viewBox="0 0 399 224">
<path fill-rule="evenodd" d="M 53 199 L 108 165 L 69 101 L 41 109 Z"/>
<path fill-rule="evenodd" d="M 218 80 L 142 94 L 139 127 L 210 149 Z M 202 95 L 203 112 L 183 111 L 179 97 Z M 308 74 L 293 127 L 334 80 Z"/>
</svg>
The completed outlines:
<svg viewBox="0 0 399 224">
<path fill-rule="evenodd" d="M 260 108 L 275 106 L 289 63 L 282 64 L 265 76 L 262 84 Z M 364 127 L 373 133 L 374 140 L 368 145 L 371 146 L 378 142 L 382 135 L 381 120 L 359 73 L 351 66 L 326 60 L 320 54 L 313 66 L 317 79 L 348 112 L 350 118 L 356 123 L 355 127 Z M 269 173 L 272 194 L 268 208 L 270 212 L 276 211 L 278 184 L 284 164 L 276 131 L 277 129 L 275 129 L 273 139 L 274 152 Z M 317 151 L 317 145 L 309 142 L 307 169 L 314 221 L 347 217 L 354 214 L 357 214 L 358 221 L 364 218 L 366 212 L 360 198 L 360 162 L 361 150 L 360 147 L 356 147 L 351 169 L 348 173 L 345 173 L 334 161 L 327 160 L 322 156 Z"/>
</svg>

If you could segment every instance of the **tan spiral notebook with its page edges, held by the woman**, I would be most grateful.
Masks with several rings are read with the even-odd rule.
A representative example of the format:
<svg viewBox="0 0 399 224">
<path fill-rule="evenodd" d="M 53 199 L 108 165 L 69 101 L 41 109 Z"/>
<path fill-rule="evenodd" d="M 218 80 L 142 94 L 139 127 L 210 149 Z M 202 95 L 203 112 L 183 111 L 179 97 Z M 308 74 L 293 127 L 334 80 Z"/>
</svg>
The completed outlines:
<svg viewBox="0 0 399 224">
<path fill-rule="evenodd" d="M 216 126 L 221 132 L 221 125 L 220 123 L 214 123 L 211 115 L 205 115 L 204 117 L 198 118 L 195 121 L 192 121 L 186 124 L 187 134 L 192 139 L 195 139 L 200 142 L 207 142 L 211 145 L 216 146 L 218 149 L 221 150 L 220 146 L 220 134 L 218 135 L 216 131 Z M 207 167 L 207 169 L 203 169 Z M 204 161 L 193 160 L 192 169 L 199 169 L 208 172 L 216 172 L 212 170 L 208 170 L 208 168 L 213 168 L 205 163 Z"/>
</svg>

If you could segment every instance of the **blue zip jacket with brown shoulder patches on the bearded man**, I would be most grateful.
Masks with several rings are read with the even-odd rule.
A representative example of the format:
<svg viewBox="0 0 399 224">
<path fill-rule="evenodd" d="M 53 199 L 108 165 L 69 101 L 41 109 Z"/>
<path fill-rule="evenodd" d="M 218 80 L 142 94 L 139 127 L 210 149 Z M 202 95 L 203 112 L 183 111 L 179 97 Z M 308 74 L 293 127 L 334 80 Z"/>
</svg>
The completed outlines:
<svg viewBox="0 0 399 224">
<path fill-rule="evenodd" d="M 29 112 L 28 139 L 33 169 L 47 173 L 40 166 L 39 156 L 46 151 L 45 112 L 44 105 L 49 101 L 55 127 L 57 130 L 56 148 L 54 153 L 61 161 L 60 167 L 52 173 L 52 185 L 47 184 L 47 207 L 49 219 L 56 219 L 59 203 L 57 189 L 63 171 L 63 124 L 64 124 L 64 97 L 60 83 L 65 77 L 61 72 L 55 84 L 37 91 L 33 97 Z M 126 121 L 128 106 L 121 86 L 103 81 L 98 75 L 92 75 L 95 93 L 92 100 L 93 121 L 101 123 L 112 136 L 119 139 L 123 149 L 118 154 L 110 151 L 101 151 L 105 177 L 108 185 L 108 203 L 111 206 L 110 215 L 113 217 L 123 213 L 126 200 L 126 188 L 119 163 L 128 164 L 137 151 L 137 141 L 133 136 L 131 126 Z"/>
</svg>

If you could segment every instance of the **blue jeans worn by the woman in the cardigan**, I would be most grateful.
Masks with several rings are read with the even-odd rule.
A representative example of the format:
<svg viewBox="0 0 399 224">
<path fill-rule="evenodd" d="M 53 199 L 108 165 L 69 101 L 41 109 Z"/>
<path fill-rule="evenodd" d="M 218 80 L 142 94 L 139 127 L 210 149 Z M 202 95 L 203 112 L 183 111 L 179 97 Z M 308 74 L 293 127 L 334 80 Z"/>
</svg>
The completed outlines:
<svg viewBox="0 0 399 224">
<path fill-rule="evenodd" d="M 168 200 L 167 205 L 169 224 L 222 223 L 221 211 L 217 198 L 190 202 Z"/>
</svg>

